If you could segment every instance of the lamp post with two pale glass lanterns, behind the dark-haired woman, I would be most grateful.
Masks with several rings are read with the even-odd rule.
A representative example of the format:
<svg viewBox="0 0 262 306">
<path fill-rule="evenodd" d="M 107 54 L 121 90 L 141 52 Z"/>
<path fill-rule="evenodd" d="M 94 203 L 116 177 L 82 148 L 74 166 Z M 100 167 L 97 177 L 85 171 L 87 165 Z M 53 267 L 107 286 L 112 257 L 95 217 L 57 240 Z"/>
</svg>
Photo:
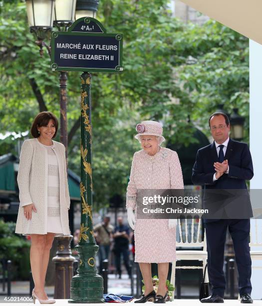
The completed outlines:
<svg viewBox="0 0 262 306">
<path fill-rule="evenodd" d="M 59 30 L 67 30 L 73 23 L 76 0 L 26 0 L 27 17 L 30 31 L 37 36 L 36 44 L 43 55 L 43 46 L 49 56 L 51 48 L 44 39 L 48 37 L 53 25 Z M 66 118 L 66 71 L 60 71 L 60 141 L 65 146 L 67 160 L 67 118 Z M 55 298 L 68 298 L 70 295 L 70 279 L 73 276 L 73 260 L 70 250 L 72 235 L 58 237 L 57 256 L 53 258 L 56 264 Z M 62 253 L 61 253 L 62 252 Z M 62 281 L 61 281 L 62 280 Z"/>
</svg>

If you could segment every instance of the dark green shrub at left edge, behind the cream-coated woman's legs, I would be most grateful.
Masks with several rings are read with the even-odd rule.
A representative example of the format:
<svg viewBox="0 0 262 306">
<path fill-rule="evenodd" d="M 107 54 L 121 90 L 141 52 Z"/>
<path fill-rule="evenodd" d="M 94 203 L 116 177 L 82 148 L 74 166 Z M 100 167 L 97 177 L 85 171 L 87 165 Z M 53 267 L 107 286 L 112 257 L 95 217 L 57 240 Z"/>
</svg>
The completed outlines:
<svg viewBox="0 0 262 306">
<path fill-rule="evenodd" d="M 15 223 L 0 219 L 0 259 L 11 260 L 12 278 L 19 275 L 21 279 L 29 277 L 30 243 L 14 234 Z"/>
</svg>

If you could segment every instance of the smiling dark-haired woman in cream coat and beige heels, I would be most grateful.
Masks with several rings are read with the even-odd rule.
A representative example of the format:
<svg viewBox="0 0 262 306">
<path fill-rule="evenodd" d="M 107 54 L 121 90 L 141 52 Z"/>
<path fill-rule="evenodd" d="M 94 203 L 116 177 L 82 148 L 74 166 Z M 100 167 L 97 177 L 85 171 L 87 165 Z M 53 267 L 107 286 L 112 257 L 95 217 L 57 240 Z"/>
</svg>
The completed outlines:
<svg viewBox="0 0 262 306">
<path fill-rule="evenodd" d="M 34 138 L 23 142 L 17 175 L 20 207 L 15 232 L 31 236 L 32 296 L 41 303 L 55 302 L 44 291 L 53 238 L 70 233 L 65 148 L 52 140 L 57 129 L 58 120 L 51 112 L 35 117 L 31 127 Z"/>
</svg>

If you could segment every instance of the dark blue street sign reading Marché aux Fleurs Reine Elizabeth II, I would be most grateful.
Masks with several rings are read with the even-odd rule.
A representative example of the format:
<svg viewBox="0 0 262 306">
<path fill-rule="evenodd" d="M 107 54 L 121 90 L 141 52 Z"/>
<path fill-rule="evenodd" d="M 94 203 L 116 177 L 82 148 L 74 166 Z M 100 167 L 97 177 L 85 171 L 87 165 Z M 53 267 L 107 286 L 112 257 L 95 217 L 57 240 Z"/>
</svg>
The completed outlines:
<svg viewBox="0 0 262 306">
<path fill-rule="evenodd" d="M 95 18 L 79 18 L 68 31 L 53 31 L 51 37 L 52 71 L 123 71 L 123 35 L 106 33 Z"/>
</svg>

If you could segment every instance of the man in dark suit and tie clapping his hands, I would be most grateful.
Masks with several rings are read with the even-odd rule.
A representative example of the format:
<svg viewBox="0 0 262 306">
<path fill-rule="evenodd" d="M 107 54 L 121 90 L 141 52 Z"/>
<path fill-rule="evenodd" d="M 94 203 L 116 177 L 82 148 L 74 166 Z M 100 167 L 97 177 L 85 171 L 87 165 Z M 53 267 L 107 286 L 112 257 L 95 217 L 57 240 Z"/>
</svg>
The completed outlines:
<svg viewBox="0 0 262 306">
<path fill-rule="evenodd" d="M 198 150 L 193 167 L 193 183 L 205 185 L 205 193 L 215 191 L 210 189 L 245 189 L 244 192 L 246 192 L 246 180 L 254 175 L 248 145 L 230 139 L 230 122 L 225 113 L 213 113 L 209 118 L 209 127 L 214 142 Z M 247 201 L 246 206 L 248 215 L 245 215 L 245 218 L 204 219 L 212 295 L 203 298 L 201 302 L 224 302 L 226 280 L 223 264 L 227 228 L 229 228 L 235 249 L 241 302 L 253 302 L 249 248 L 249 217 L 253 215 L 250 200 Z"/>
</svg>

